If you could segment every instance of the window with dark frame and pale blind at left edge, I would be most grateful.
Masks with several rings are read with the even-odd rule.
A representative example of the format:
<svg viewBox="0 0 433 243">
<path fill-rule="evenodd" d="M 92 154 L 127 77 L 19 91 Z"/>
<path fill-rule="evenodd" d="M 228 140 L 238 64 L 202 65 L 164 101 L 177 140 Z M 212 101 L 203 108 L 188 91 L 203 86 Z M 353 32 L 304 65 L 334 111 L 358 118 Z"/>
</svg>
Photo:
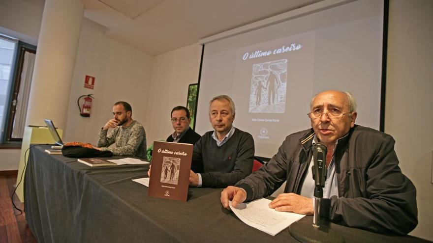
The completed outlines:
<svg viewBox="0 0 433 243">
<path fill-rule="evenodd" d="M 36 47 L 0 35 L 0 143 L 21 142 Z"/>
</svg>

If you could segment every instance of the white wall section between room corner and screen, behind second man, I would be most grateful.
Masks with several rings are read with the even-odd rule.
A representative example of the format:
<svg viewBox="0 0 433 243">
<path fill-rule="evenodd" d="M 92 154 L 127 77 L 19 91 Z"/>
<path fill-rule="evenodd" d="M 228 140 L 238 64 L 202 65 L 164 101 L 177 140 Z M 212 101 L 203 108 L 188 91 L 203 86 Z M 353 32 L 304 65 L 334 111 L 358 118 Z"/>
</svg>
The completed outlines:
<svg viewBox="0 0 433 243">
<path fill-rule="evenodd" d="M 170 112 L 175 106 L 186 106 L 188 85 L 198 82 L 201 49 L 193 44 L 154 57 L 145 127 L 148 146 L 173 133 Z"/>
</svg>

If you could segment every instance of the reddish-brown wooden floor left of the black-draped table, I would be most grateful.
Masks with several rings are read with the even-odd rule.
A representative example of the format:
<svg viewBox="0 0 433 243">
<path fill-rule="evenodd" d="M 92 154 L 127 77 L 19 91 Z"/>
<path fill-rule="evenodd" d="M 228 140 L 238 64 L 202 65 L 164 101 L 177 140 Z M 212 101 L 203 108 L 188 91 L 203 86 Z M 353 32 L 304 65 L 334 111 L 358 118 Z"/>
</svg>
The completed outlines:
<svg viewBox="0 0 433 243">
<path fill-rule="evenodd" d="M 12 206 L 10 196 L 17 182 L 17 173 L 2 173 L 0 171 L 0 243 L 33 243 L 37 242 L 24 213 Z M 21 182 L 23 183 L 23 182 Z M 24 205 L 14 195 L 15 205 L 23 210 Z"/>
</svg>

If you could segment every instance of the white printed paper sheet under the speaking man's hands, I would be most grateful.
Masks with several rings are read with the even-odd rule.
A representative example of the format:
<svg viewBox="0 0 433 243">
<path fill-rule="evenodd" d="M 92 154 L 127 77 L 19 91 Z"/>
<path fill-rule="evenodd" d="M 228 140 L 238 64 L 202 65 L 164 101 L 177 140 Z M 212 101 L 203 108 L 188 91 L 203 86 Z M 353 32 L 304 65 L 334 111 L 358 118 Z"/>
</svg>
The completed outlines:
<svg viewBox="0 0 433 243">
<path fill-rule="evenodd" d="M 244 223 L 272 236 L 305 216 L 275 211 L 269 208 L 270 202 L 269 199 L 261 198 L 248 203 L 240 203 L 236 208 L 232 206 L 231 201 L 229 205 L 233 213 Z"/>
</svg>

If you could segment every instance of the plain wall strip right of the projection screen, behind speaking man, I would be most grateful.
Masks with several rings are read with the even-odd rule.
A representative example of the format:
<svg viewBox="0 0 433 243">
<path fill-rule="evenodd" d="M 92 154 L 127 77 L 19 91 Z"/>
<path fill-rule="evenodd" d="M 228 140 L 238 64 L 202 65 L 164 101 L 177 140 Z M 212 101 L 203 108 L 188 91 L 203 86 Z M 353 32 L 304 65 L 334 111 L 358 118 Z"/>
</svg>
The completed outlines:
<svg viewBox="0 0 433 243">
<path fill-rule="evenodd" d="M 417 189 L 410 234 L 433 241 L 433 1 L 391 0 L 389 12 L 385 132 Z"/>
</svg>

